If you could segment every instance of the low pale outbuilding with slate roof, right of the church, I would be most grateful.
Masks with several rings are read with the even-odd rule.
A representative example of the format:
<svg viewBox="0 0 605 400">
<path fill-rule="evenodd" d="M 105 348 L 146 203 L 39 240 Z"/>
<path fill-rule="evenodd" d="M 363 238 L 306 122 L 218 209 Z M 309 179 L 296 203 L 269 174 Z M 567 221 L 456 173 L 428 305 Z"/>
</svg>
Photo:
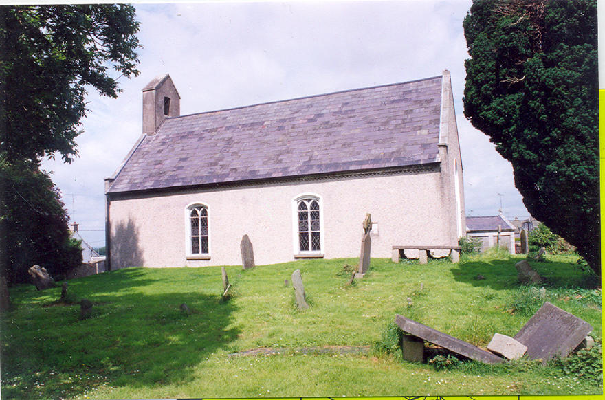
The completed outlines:
<svg viewBox="0 0 605 400">
<path fill-rule="evenodd" d="M 467 236 L 481 239 L 481 252 L 500 245 L 515 254 L 516 228 L 503 214 L 496 216 L 467 216 Z"/>
</svg>

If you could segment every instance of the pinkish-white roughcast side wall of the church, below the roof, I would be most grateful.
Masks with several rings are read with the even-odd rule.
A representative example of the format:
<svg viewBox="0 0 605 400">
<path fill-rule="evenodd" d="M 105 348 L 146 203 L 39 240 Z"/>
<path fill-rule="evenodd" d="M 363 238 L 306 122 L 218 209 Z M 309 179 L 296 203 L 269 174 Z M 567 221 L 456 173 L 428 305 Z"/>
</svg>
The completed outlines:
<svg viewBox="0 0 605 400">
<path fill-rule="evenodd" d="M 455 216 L 446 216 L 439 172 L 263 184 L 111 201 L 111 269 L 241 265 L 240 241 L 250 236 L 256 265 L 294 260 L 292 203 L 322 200 L 325 258 L 358 257 L 366 212 L 377 222 L 372 257 L 393 245 L 455 245 Z M 186 258 L 185 209 L 208 207 L 210 260 Z M 455 226 L 453 227 L 456 231 Z"/>
</svg>

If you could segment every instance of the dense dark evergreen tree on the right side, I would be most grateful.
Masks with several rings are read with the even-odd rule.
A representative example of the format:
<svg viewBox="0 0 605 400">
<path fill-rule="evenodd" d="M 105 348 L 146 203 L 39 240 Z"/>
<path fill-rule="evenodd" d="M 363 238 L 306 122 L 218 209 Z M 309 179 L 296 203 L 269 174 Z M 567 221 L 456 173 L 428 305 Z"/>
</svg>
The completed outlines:
<svg viewBox="0 0 605 400">
<path fill-rule="evenodd" d="M 529 213 L 600 275 L 596 0 L 474 1 L 463 26 L 466 118 Z"/>
</svg>

